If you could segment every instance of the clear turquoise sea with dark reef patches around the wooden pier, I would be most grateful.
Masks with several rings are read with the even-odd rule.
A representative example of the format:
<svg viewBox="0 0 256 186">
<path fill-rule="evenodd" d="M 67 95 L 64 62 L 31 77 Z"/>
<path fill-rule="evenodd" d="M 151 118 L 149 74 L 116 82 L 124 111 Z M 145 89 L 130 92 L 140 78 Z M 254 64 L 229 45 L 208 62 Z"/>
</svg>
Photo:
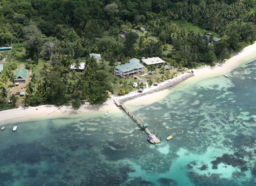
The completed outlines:
<svg viewBox="0 0 256 186">
<path fill-rule="evenodd" d="M 255 58 L 227 74 L 127 105 L 159 144 L 120 110 L 4 121 L 0 186 L 255 186 Z"/>
</svg>

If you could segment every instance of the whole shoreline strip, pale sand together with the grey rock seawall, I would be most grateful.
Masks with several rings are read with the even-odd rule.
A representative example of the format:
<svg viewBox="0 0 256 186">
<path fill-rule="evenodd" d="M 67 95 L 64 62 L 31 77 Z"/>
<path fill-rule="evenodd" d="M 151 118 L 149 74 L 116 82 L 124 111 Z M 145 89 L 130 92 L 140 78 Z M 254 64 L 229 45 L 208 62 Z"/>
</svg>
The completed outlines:
<svg viewBox="0 0 256 186">
<path fill-rule="evenodd" d="M 17 109 L 10 109 L 0 111 L 1 117 L 0 121 L 8 121 L 14 118 L 21 117 L 39 117 L 40 116 L 52 116 L 52 113 L 55 114 L 72 114 L 72 113 L 88 113 L 94 111 L 114 111 L 117 112 L 119 108 L 114 104 L 113 99 L 123 100 L 122 103 L 126 102 L 127 104 L 150 104 L 156 101 L 159 101 L 167 96 L 166 89 L 186 80 L 186 79 L 198 79 L 203 76 L 217 76 L 223 75 L 231 71 L 232 69 L 238 67 L 243 62 L 246 62 L 249 59 L 253 59 L 256 56 L 256 43 L 253 45 L 245 47 L 240 53 L 232 56 L 230 59 L 226 60 L 226 62 L 222 65 L 217 65 L 215 67 L 206 66 L 199 69 L 190 69 L 194 71 L 193 75 L 190 73 L 184 73 L 178 76 L 177 78 L 167 80 L 165 82 L 160 83 L 158 86 L 152 86 L 151 88 L 144 89 L 143 93 L 137 93 L 136 91 L 131 92 L 128 95 L 119 96 L 119 97 L 111 97 L 105 103 L 101 105 L 89 105 L 83 104 L 80 109 L 77 111 L 72 110 L 71 106 L 55 106 L 55 105 L 41 105 L 37 107 L 24 107 L 20 106 Z M 189 77 L 186 77 L 189 74 Z M 179 81 L 183 76 L 186 79 Z M 178 83 L 175 81 L 179 81 Z M 158 95 L 158 96 L 156 96 Z"/>
</svg>

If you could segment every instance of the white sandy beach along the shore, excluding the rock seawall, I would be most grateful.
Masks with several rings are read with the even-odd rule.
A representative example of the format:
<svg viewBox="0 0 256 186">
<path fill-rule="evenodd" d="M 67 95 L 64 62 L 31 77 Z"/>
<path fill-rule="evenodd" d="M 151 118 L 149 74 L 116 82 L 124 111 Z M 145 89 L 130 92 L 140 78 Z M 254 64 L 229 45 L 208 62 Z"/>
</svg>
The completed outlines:
<svg viewBox="0 0 256 186">
<path fill-rule="evenodd" d="M 223 75 L 224 73 L 227 73 L 231 71 L 232 69 L 236 68 L 240 64 L 242 64 L 248 57 L 250 56 L 255 56 L 256 54 L 256 43 L 250 46 L 247 46 L 238 53 L 237 55 L 231 57 L 230 59 L 226 60 L 226 62 L 223 65 L 217 65 L 215 67 L 209 67 L 206 66 L 204 68 L 200 69 L 192 69 L 194 71 L 194 77 L 192 78 L 197 78 L 197 77 L 203 77 L 209 74 L 212 75 Z M 191 71 L 191 70 L 190 70 Z M 182 74 L 183 75 L 183 74 Z M 142 77 L 143 78 L 143 77 Z M 178 78 L 178 77 L 177 77 Z M 192 79 L 190 78 L 190 79 Z M 151 88 L 145 89 L 143 92 L 147 92 L 149 90 L 152 90 L 154 88 L 159 87 L 160 85 L 163 85 L 166 82 L 160 83 L 158 86 L 152 86 Z M 129 95 L 124 95 L 120 97 L 111 97 L 108 101 L 103 103 L 102 105 L 89 105 L 89 104 L 84 104 L 81 106 L 81 108 L 78 111 L 73 111 L 71 106 L 53 106 L 53 105 L 42 105 L 38 107 L 22 107 L 20 106 L 17 109 L 11 109 L 11 110 L 5 110 L 0 112 L 0 121 L 1 120 L 10 120 L 13 118 L 19 118 L 19 117 L 28 117 L 28 116 L 33 116 L 33 117 L 41 117 L 41 116 L 50 116 L 52 113 L 58 113 L 58 114 L 71 114 L 71 113 L 86 113 L 86 112 L 93 112 L 93 111 L 117 111 L 118 108 L 114 104 L 113 99 L 122 99 L 125 97 L 133 96 L 136 93 L 135 91 L 131 92 Z M 131 103 L 136 103 L 136 104 L 150 104 L 154 103 L 156 101 L 159 101 L 166 97 L 168 94 L 167 90 L 164 90 L 162 92 L 157 92 L 153 94 L 148 94 L 143 97 L 139 97 L 135 100 L 131 100 L 126 102 L 127 104 Z M 156 96 L 157 95 L 157 96 Z"/>
</svg>

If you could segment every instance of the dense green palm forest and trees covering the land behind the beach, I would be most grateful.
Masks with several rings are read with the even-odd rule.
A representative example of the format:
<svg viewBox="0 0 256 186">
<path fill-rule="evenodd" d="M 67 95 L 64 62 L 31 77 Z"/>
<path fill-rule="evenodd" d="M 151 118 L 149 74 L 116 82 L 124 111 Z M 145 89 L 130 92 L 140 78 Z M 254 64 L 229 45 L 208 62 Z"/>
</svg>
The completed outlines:
<svg viewBox="0 0 256 186">
<path fill-rule="evenodd" d="M 16 63 L 33 70 L 25 105 L 73 100 L 74 107 L 75 100 L 106 101 L 106 90 L 115 92 L 111 84 L 120 80 L 110 77 L 113 65 L 124 64 L 129 57 L 159 56 L 181 70 L 224 63 L 255 41 L 255 6 L 254 0 L 2 0 L 0 45 L 13 47 L 12 53 L 0 55 L 10 59 L 0 76 L 2 105 L 6 99 L 14 105 L 17 101 L 8 91 Z M 147 33 L 139 36 L 135 27 Z M 120 31 L 127 31 L 126 40 Z M 213 36 L 221 40 L 214 42 Z M 32 57 L 32 62 L 11 60 L 11 55 L 24 52 L 23 59 Z M 101 54 L 102 60 L 97 62 L 89 53 Z M 80 62 L 86 62 L 83 72 L 70 69 Z M 162 74 L 162 80 L 170 77 L 164 69 Z M 134 88 L 120 83 L 126 90 L 119 94 Z"/>
</svg>

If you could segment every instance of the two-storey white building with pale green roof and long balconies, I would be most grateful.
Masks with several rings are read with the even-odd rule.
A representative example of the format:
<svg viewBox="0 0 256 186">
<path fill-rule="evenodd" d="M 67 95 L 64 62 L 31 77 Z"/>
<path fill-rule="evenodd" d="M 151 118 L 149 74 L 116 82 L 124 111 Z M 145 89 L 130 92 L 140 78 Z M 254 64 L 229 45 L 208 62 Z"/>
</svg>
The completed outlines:
<svg viewBox="0 0 256 186">
<path fill-rule="evenodd" d="M 126 64 L 115 66 L 114 74 L 120 75 L 121 77 L 125 77 L 126 75 L 129 75 L 129 74 L 142 72 L 144 70 L 144 67 L 145 66 L 137 62 L 126 63 Z"/>
</svg>

